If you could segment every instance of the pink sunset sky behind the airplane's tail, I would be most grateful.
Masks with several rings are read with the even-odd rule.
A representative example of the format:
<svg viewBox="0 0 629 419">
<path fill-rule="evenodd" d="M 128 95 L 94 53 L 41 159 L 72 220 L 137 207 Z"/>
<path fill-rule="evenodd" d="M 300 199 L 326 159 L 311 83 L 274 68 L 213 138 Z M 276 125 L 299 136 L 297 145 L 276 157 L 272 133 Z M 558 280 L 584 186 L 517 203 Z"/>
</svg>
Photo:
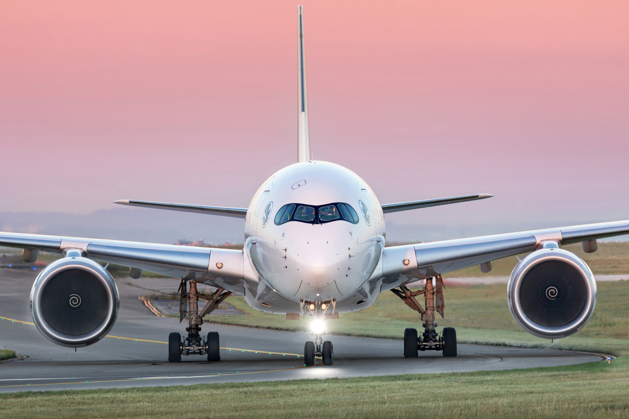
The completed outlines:
<svg viewBox="0 0 629 419">
<path fill-rule="evenodd" d="M 398 223 L 629 218 L 629 3 L 304 1 L 315 158 Z M 0 11 L 0 212 L 247 206 L 296 161 L 297 5 Z"/>
</svg>

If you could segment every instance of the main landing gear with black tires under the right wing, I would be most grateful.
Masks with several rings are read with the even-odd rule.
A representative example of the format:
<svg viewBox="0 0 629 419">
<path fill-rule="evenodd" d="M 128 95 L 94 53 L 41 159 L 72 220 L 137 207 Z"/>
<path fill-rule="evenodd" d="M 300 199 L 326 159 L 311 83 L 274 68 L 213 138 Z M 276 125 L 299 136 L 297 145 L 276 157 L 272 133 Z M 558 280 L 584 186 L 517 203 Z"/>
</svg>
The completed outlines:
<svg viewBox="0 0 629 419">
<path fill-rule="evenodd" d="M 444 327 L 441 334 L 437 333 L 435 327 L 435 311 L 443 317 L 443 278 L 441 275 L 435 277 L 435 285 L 432 278 L 426 279 L 426 286 L 423 290 L 411 291 L 405 285 L 391 290 L 401 298 L 408 307 L 413 308 L 421 314 L 424 332 L 418 336 L 417 330 L 409 327 L 404 330 L 404 356 L 416 358 L 417 351 L 443 351 L 443 356 L 457 356 L 457 332 L 454 327 Z M 415 297 L 423 294 L 426 300 L 426 308 L 421 307 Z"/>
</svg>

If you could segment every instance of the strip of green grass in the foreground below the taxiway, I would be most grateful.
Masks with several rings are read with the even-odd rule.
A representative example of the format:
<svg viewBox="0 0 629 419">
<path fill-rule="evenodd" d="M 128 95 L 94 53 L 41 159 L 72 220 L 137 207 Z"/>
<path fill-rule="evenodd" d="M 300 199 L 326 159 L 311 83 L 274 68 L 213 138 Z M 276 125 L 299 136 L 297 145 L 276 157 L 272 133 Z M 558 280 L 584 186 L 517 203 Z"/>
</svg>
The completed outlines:
<svg viewBox="0 0 629 419">
<path fill-rule="evenodd" d="M 629 416 L 628 394 L 623 357 L 511 371 L 6 393 L 0 416 L 620 418 Z"/>
</svg>

